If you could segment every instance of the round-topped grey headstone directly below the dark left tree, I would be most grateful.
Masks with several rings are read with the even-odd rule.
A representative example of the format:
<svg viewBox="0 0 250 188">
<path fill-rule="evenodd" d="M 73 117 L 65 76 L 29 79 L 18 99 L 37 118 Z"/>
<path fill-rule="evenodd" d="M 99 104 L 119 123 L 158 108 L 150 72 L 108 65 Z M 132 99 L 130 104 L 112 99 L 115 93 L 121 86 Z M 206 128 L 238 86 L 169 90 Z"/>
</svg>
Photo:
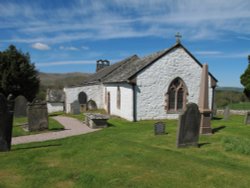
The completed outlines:
<svg viewBox="0 0 250 188">
<path fill-rule="evenodd" d="M 26 117 L 27 116 L 27 99 L 20 95 L 15 99 L 14 116 L 15 117 Z"/>
</svg>

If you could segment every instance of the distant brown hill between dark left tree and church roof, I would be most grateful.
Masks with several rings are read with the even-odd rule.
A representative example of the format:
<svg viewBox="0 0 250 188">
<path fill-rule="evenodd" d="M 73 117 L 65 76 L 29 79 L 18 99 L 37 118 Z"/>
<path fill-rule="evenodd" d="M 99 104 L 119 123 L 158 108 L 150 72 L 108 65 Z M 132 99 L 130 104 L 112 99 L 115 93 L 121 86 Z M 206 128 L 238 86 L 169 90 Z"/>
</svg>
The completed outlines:
<svg viewBox="0 0 250 188">
<path fill-rule="evenodd" d="M 41 86 L 45 88 L 63 88 L 65 86 L 80 85 L 90 76 L 90 73 L 39 73 Z"/>
</svg>

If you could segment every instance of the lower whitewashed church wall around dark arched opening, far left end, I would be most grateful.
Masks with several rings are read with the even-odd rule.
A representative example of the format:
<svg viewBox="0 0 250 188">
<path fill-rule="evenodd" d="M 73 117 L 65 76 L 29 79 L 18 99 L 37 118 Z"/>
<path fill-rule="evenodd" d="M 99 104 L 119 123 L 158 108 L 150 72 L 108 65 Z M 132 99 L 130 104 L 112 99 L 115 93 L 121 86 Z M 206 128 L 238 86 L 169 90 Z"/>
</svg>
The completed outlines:
<svg viewBox="0 0 250 188">
<path fill-rule="evenodd" d="M 78 94 L 82 91 L 87 94 L 87 100 L 92 99 L 96 102 L 97 108 L 103 108 L 103 85 L 64 88 L 66 113 L 70 113 L 70 104 L 78 101 Z"/>
</svg>

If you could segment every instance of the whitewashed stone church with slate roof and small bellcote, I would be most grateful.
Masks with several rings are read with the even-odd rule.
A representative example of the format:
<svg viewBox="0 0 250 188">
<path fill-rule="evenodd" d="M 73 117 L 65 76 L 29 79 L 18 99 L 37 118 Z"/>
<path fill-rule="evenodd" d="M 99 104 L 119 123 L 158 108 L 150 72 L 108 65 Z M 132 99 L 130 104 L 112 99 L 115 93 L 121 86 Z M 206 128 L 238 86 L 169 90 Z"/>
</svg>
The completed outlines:
<svg viewBox="0 0 250 188">
<path fill-rule="evenodd" d="M 198 104 L 201 72 L 202 64 L 180 41 L 149 56 L 133 55 L 113 65 L 99 60 L 97 72 L 81 86 L 64 88 L 66 112 L 71 112 L 74 102 L 86 105 L 91 100 L 97 108 L 130 121 L 177 118 L 187 103 Z M 210 109 L 216 83 L 209 73 Z"/>
</svg>

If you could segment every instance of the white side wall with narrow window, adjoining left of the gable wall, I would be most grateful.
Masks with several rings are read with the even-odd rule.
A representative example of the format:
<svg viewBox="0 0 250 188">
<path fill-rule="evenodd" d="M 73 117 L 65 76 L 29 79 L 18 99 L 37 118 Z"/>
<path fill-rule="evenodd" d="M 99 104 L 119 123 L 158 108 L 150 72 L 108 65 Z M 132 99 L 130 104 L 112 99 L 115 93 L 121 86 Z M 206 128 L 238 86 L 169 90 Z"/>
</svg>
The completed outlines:
<svg viewBox="0 0 250 188">
<path fill-rule="evenodd" d="M 117 88 L 120 87 L 121 105 L 117 107 Z M 133 121 L 133 89 L 130 84 L 106 85 L 110 93 L 110 114 Z"/>
</svg>

